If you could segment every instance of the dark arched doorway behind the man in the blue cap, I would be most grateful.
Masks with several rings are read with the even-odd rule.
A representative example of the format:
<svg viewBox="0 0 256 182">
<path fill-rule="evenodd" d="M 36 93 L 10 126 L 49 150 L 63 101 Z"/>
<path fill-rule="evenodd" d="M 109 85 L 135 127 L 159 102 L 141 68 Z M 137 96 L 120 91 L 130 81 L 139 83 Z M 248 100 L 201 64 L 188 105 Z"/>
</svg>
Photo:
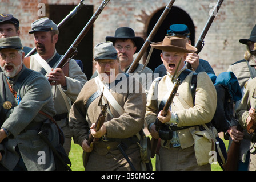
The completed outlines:
<svg viewBox="0 0 256 182">
<path fill-rule="evenodd" d="M 163 10 L 165 10 L 165 8 L 157 11 L 157 13 L 155 13 L 153 15 L 153 17 L 151 18 L 150 22 L 149 22 L 149 26 L 147 28 L 147 36 L 150 34 L 151 30 L 154 28 L 155 24 L 157 23 L 159 17 L 162 15 Z M 169 29 L 171 24 L 186 24 L 189 27 L 190 30 L 190 40 L 191 40 L 191 44 L 194 46 L 195 44 L 195 27 L 194 27 L 194 23 L 192 21 L 192 19 L 190 18 L 190 16 L 183 11 L 182 9 L 180 9 L 179 7 L 171 7 L 171 10 L 169 11 L 169 13 L 167 14 L 165 20 L 163 20 L 163 23 L 161 24 L 161 26 L 159 27 L 157 33 L 155 34 L 154 38 L 152 39 L 153 42 L 160 42 L 163 40 L 163 38 L 166 36 L 166 31 Z M 150 50 L 150 46 L 147 49 L 147 54 L 149 53 Z M 162 64 L 162 60 L 160 58 L 160 50 L 154 49 L 149 63 L 147 64 L 147 67 L 149 67 L 150 69 L 152 69 L 153 71 L 155 70 L 156 67 L 158 67 L 158 65 Z"/>
</svg>

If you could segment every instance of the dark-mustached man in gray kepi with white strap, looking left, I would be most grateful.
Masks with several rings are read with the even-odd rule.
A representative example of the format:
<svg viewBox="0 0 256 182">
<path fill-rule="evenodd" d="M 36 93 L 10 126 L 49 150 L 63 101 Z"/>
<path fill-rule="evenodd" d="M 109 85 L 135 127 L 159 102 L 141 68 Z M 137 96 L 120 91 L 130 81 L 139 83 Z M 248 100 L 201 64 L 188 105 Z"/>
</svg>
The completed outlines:
<svg viewBox="0 0 256 182">
<path fill-rule="evenodd" d="M 85 73 L 74 59 L 63 68 L 55 68 L 63 55 L 55 49 L 58 42 L 59 30 L 57 25 L 49 18 L 41 18 L 35 20 L 31 24 L 32 30 L 30 34 L 34 34 L 35 48 L 37 53 L 30 57 L 26 57 L 24 64 L 27 68 L 40 72 L 45 75 L 51 82 L 54 97 L 54 109 L 56 115 L 55 121 L 63 130 L 65 135 L 65 143 L 63 147 L 67 154 L 71 148 L 72 133 L 68 125 L 69 110 L 71 102 L 74 102 L 87 81 Z M 52 71 L 52 68 L 55 68 Z"/>
</svg>

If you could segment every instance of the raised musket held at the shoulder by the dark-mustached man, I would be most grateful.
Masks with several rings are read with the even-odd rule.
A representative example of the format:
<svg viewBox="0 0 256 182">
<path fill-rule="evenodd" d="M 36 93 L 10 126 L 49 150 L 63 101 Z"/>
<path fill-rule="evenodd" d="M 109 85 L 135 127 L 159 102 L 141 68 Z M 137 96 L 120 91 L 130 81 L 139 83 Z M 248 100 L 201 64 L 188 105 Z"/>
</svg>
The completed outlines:
<svg viewBox="0 0 256 182">
<path fill-rule="evenodd" d="M 77 36 L 77 38 L 74 40 L 74 42 L 71 44 L 65 55 L 63 55 L 62 59 L 58 62 L 58 64 L 55 66 L 54 69 L 56 68 L 63 68 L 65 64 L 67 64 L 71 59 L 71 55 L 73 55 L 75 52 L 77 52 L 77 46 L 78 44 L 82 41 L 82 39 L 85 37 L 87 32 L 90 30 L 91 26 L 93 26 L 93 23 L 95 20 L 98 18 L 99 14 L 103 11 L 105 6 L 110 0 L 103 0 L 101 5 L 98 7 L 97 11 L 91 16 L 91 19 L 89 22 L 87 22 L 86 26 L 83 27 L 83 30 L 80 32 L 80 34 Z M 51 83 L 52 81 L 49 80 Z"/>
</svg>

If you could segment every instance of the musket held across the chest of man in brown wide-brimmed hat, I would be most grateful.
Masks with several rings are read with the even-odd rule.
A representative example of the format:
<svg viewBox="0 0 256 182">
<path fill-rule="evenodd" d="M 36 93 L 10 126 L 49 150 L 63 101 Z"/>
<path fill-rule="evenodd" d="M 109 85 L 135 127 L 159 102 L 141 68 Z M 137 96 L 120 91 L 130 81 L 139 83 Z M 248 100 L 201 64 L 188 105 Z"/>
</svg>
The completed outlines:
<svg viewBox="0 0 256 182">
<path fill-rule="evenodd" d="M 175 94 L 177 93 L 177 90 L 179 88 L 179 85 L 181 84 L 181 79 L 178 78 L 177 80 L 174 81 L 175 85 L 173 87 L 173 90 L 171 90 L 171 94 L 165 104 L 165 106 L 163 107 L 162 110 L 162 115 L 165 116 L 168 113 L 168 110 L 171 106 L 171 102 L 173 101 L 173 98 L 175 96 Z M 163 123 L 161 121 L 159 121 L 158 119 L 155 121 L 155 130 L 159 131 L 160 127 L 163 125 Z M 155 156 L 155 152 L 157 151 L 157 143 L 158 143 L 158 139 L 156 138 L 151 138 L 150 140 L 150 144 L 151 144 L 151 158 L 154 158 Z"/>
</svg>

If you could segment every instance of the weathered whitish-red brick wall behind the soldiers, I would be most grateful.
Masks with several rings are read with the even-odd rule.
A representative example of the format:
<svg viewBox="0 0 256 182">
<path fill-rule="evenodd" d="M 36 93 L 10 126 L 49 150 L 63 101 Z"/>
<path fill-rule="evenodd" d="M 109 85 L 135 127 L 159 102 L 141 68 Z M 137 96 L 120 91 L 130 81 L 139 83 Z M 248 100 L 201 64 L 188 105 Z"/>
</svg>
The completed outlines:
<svg viewBox="0 0 256 182">
<path fill-rule="evenodd" d="M 33 36 L 27 34 L 30 24 L 38 19 L 38 3 L 74 4 L 80 1 L 65 0 L 0 0 L 1 13 L 13 14 L 21 22 L 21 39 L 26 46 L 33 47 Z M 85 0 L 85 4 L 94 5 L 94 11 L 101 5 L 101 0 Z M 111 0 L 94 23 L 94 45 L 113 36 L 116 28 L 131 27 L 137 36 L 147 37 L 147 24 L 150 18 L 164 8 L 168 0 Z M 209 18 L 211 3 L 217 0 L 177 0 L 174 6 L 186 11 L 195 26 L 195 40 Z M 208 60 L 217 75 L 227 70 L 228 65 L 243 59 L 246 47 L 239 43 L 241 38 L 249 38 L 251 29 L 256 24 L 254 6 L 256 0 L 223 1 L 218 15 L 206 35 L 205 47 L 199 53 L 202 59 Z M 209 7 L 210 6 L 210 7 Z M 178 15 L 177 15 L 178 16 Z M 173 17 L 175 18 L 175 17 Z M 75 38 L 74 38 L 75 39 Z M 93 46 L 94 46 L 93 45 Z"/>
</svg>

